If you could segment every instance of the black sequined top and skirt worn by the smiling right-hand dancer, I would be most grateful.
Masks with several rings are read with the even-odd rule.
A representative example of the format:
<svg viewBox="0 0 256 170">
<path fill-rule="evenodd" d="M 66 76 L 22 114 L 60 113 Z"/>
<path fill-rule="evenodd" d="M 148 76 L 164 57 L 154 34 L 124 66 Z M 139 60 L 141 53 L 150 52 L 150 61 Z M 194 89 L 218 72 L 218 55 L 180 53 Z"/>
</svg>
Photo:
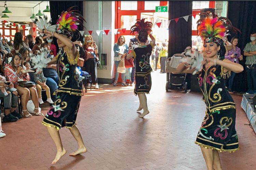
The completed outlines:
<svg viewBox="0 0 256 170">
<path fill-rule="evenodd" d="M 239 144 L 235 129 L 236 105 L 225 87 L 226 75 L 230 75 L 230 71 L 223 73 L 223 67 L 218 65 L 199 72 L 199 86 L 207 110 L 195 143 L 231 152 L 239 150 Z"/>
</svg>

